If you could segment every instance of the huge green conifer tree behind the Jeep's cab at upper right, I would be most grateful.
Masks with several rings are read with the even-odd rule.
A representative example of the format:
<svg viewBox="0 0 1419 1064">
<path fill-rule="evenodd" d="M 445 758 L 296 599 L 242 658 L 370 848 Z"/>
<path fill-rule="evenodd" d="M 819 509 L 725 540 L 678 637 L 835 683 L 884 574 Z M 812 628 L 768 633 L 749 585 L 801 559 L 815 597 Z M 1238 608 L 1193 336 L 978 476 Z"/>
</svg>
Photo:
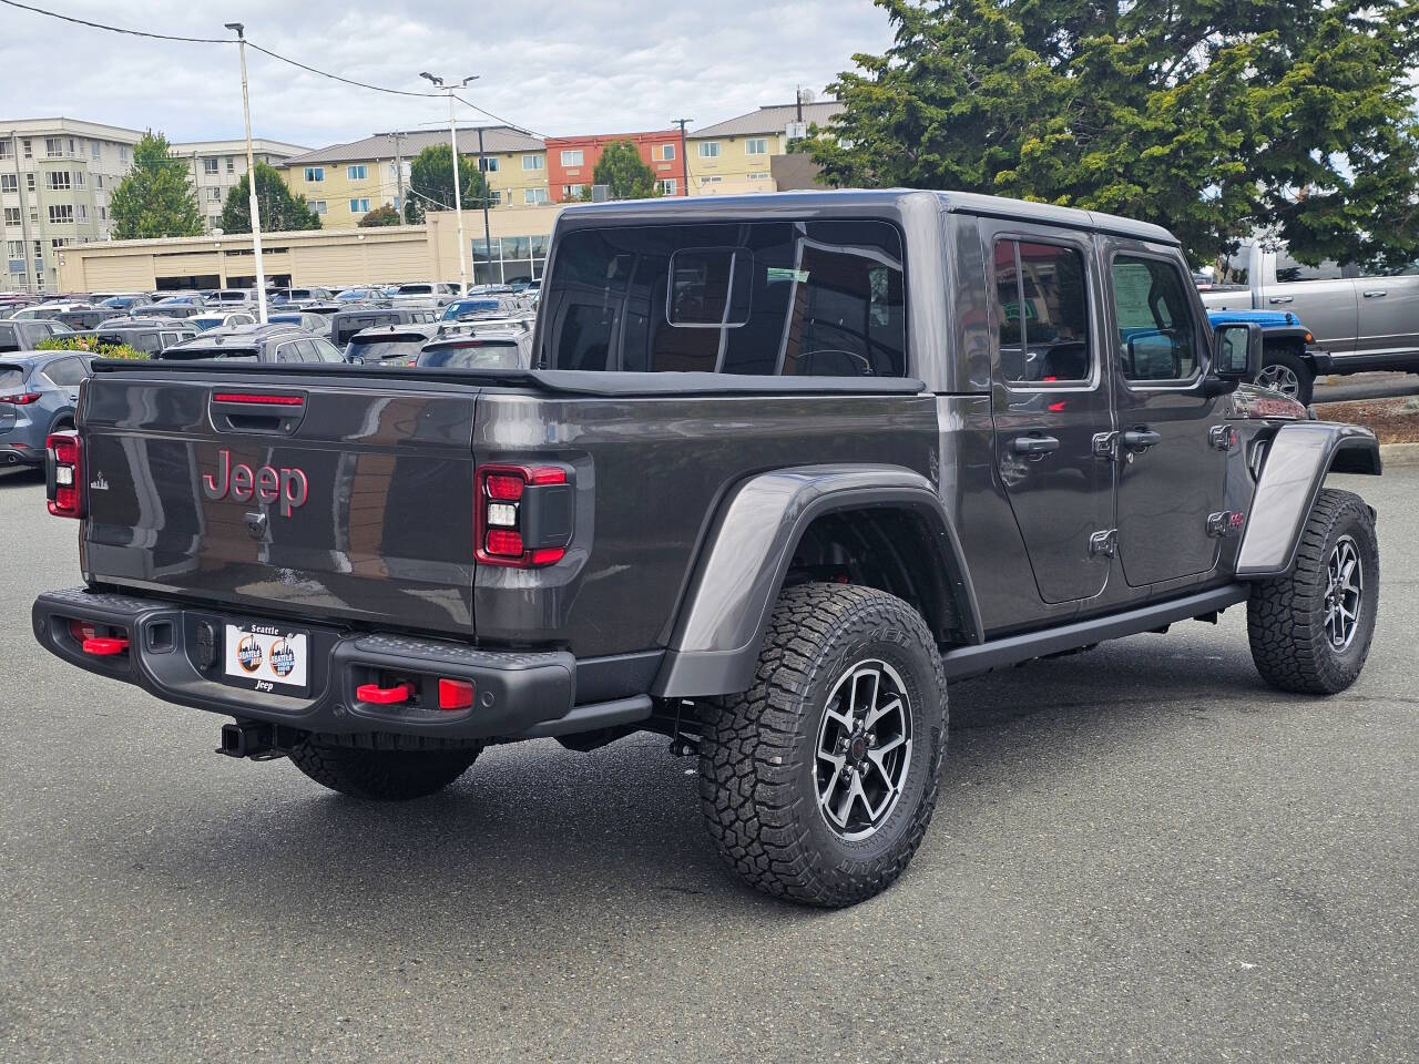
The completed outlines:
<svg viewBox="0 0 1419 1064">
<path fill-rule="evenodd" d="M 1107 210 L 1193 261 L 1253 230 L 1291 254 L 1419 254 L 1419 0 L 876 0 L 885 55 L 800 142 L 832 184 Z"/>
</svg>

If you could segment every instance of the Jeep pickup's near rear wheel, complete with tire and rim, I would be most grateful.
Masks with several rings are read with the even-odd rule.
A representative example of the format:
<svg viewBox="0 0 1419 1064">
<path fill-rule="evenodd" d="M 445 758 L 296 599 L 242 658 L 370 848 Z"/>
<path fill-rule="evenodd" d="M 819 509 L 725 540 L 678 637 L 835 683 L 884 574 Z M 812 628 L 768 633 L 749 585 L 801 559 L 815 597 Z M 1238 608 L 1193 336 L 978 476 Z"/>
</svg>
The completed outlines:
<svg viewBox="0 0 1419 1064">
<path fill-rule="evenodd" d="M 753 685 L 704 724 L 700 804 L 749 885 L 843 907 L 901 875 L 946 748 L 941 655 L 907 603 L 873 587 L 785 590 Z"/>
</svg>

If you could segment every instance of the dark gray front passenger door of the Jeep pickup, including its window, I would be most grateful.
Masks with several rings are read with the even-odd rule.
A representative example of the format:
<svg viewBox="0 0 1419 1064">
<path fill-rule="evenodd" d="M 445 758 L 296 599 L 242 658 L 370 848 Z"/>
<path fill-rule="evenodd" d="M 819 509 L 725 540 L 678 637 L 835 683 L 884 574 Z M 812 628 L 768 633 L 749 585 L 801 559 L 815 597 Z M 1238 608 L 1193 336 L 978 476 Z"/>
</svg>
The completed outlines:
<svg viewBox="0 0 1419 1064">
<path fill-rule="evenodd" d="M 1203 393 L 1209 331 L 1172 248 L 1107 241 L 1111 340 L 1118 372 L 1118 555 L 1132 587 L 1216 566 L 1208 516 L 1222 509 L 1226 454 Z"/>
</svg>

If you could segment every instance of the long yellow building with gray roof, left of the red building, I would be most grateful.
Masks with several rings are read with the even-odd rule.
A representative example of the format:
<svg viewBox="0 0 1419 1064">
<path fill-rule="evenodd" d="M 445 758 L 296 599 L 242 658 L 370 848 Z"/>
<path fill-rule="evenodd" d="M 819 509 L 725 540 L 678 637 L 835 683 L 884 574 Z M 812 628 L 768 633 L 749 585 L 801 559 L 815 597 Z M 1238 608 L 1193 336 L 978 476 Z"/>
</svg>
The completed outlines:
<svg viewBox="0 0 1419 1064">
<path fill-rule="evenodd" d="M 414 156 L 430 145 L 446 143 L 448 131 L 379 133 L 288 159 L 281 173 L 291 192 L 305 196 L 321 216 L 322 227 L 350 228 L 376 207 L 402 209 Z M 546 145 L 538 138 L 507 126 L 487 126 L 482 149 L 491 207 L 532 207 L 548 201 Z M 478 156 L 478 129 L 458 131 L 458 155 Z M 437 206 L 424 206 L 437 210 Z"/>
</svg>

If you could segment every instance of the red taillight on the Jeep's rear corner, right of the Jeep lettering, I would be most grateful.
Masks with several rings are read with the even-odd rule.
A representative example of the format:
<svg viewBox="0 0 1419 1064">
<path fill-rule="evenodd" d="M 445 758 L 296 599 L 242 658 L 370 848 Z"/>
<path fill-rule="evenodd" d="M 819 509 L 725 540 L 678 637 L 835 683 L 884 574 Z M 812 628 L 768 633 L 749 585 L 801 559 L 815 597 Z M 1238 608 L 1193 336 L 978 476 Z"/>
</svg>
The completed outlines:
<svg viewBox="0 0 1419 1064">
<path fill-rule="evenodd" d="M 487 565 L 553 565 L 572 542 L 572 484 L 559 465 L 484 465 L 474 506 L 474 556 Z"/>
</svg>

